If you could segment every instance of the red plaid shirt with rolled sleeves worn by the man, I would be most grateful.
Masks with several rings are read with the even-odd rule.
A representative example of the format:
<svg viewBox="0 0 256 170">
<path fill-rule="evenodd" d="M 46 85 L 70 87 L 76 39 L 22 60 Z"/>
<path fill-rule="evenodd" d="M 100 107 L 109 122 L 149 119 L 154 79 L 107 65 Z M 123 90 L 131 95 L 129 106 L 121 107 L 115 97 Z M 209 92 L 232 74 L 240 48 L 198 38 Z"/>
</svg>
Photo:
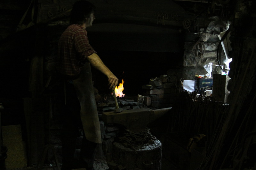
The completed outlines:
<svg viewBox="0 0 256 170">
<path fill-rule="evenodd" d="M 81 71 L 87 56 L 97 53 L 89 44 L 87 31 L 72 24 L 62 33 L 58 45 L 58 71 L 70 77 L 76 77 Z"/>
</svg>

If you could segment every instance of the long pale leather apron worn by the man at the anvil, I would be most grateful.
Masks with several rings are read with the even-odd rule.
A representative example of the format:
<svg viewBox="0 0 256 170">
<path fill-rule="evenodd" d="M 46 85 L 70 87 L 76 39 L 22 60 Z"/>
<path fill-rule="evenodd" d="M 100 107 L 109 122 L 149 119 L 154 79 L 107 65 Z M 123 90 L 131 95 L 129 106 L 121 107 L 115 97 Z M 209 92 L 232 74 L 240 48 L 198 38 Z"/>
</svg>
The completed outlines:
<svg viewBox="0 0 256 170">
<path fill-rule="evenodd" d="M 92 85 L 92 71 L 89 62 L 86 62 L 77 79 L 73 80 L 77 98 L 80 102 L 81 120 L 87 140 L 102 143 L 100 122 Z"/>
</svg>

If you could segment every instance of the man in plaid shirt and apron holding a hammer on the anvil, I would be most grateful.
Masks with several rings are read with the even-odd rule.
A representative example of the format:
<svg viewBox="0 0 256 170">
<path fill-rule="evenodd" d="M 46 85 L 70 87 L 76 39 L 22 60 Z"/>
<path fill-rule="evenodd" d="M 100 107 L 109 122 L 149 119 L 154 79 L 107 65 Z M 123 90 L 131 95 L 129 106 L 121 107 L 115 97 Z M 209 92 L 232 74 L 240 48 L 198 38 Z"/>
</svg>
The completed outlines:
<svg viewBox="0 0 256 170">
<path fill-rule="evenodd" d="M 92 26 L 95 6 L 85 0 L 75 2 L 70 24 L 59 40 L 58 72 L 65 77 L 62 140 L 62 170 L 93 169 L 93 153 L 101 143 L 100 123 L 94 98 L 91 65 L 108 77 L 109 89 L 118 79 L 91 47 L 86 28 Z M 82 126 L 84 137 L 78 162 L 74 159 L 77 130 Z"/>
</svg>

